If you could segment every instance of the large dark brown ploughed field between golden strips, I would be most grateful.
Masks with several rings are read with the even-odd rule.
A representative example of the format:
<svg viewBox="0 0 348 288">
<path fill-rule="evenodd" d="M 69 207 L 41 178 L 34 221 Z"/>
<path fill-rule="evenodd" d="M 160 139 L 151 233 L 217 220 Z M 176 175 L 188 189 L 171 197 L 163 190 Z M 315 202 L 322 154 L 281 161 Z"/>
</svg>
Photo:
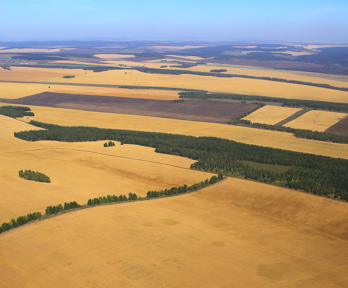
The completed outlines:
<svg viewBox="0 0 348 288">
<path fill-rule="evenodd" d="M 6 99 L 6 103 L 222 124 L 257 106 L 253 104 L 203 99 L 185 99 L 185 102 L 172 103 L 172 101 L 168 100 L 63 94 L 53 92 L 39 93 L 19 99 Z"/>
</svg>

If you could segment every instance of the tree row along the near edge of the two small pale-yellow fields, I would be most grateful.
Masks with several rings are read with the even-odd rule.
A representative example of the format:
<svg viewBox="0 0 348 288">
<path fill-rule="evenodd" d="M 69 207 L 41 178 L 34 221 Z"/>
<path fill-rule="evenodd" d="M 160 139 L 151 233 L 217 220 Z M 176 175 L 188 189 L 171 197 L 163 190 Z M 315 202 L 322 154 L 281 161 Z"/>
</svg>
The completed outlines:
<svg viewBox="0 0 348 288">
<path fill-rule="evenodd" d="M 249 120 L 239 119 L 239 118 L 232 119 L 228 121 L 227 124 L 250 125 L 251 128 L 292 133 L 293 135 L 295 135 L 296 138 L 348 144 L 348 137 L 338 136 L 335 134 L 330 134 L 325 132 L 318 132 L 318 131 L 305 130 L 305 129 L 295 129 L 291 127 L 275 126 L 275 125 L 268 125 L 268 124 L 261 124 L 261 123 L 252 123 Z"/>
</svg>

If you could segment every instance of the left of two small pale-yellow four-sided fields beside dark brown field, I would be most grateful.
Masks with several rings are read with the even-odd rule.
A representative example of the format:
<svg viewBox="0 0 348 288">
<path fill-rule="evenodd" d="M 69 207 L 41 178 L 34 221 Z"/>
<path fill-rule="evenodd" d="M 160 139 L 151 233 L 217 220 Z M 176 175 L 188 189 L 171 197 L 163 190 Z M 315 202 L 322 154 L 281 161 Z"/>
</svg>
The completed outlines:
<svg viewBox="0 0 348 288">
<path fill-rule="evenodd" d="M 243 119 L 250 120 L 253 123 L 274 125 L 300 110 L 298 108 L 266 105 Z"/>
</svg>

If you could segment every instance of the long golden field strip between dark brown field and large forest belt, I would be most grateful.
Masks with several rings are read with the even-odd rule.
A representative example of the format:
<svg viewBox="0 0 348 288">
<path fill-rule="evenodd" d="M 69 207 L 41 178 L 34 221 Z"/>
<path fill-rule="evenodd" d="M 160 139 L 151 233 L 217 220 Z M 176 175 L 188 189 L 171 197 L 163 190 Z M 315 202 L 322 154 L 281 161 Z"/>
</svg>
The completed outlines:
<svg viewBox="0 0 348 288">
<path fill-rule="evenodd" d="M 1 105 L 1 103 L 0 103 Z M 93 126 L 135 131 L 164 132 L 192 136 L 226 138 L 246 144 L 256 144 L 285 150 L 314 153 L 348 159 L 347 144 L 336 144 L 294 137 L 290 133 L 252 129 L 216 123 L 183 121 L 138 115 L 110 114 L 73 109 L 30 106 L 31 119 L 63 126 Z"/>
</svg>

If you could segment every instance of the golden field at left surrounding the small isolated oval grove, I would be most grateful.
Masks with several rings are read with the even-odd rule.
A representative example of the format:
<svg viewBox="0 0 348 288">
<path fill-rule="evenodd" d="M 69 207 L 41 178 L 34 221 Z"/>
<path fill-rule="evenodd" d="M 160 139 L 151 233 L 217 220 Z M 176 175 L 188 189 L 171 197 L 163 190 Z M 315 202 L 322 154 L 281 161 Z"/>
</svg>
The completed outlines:
<svg viewBox="0 0 348 288">
<path fill-rule="evenodd" d="M 138 145 L 103 147 L 102 142 L 27 142 L 13 132 L 37 129 L 24 122 L 0 115 L 0 222 L 50 205 L 108 194 L 146 196 L 149 190 L 192 185 L 210 173 L 187 169 L 194 161 L 155 153 L 154 148 Z M 24 180 L 19 170 L 46 174 L 51 183 Z"/>
</svg>

